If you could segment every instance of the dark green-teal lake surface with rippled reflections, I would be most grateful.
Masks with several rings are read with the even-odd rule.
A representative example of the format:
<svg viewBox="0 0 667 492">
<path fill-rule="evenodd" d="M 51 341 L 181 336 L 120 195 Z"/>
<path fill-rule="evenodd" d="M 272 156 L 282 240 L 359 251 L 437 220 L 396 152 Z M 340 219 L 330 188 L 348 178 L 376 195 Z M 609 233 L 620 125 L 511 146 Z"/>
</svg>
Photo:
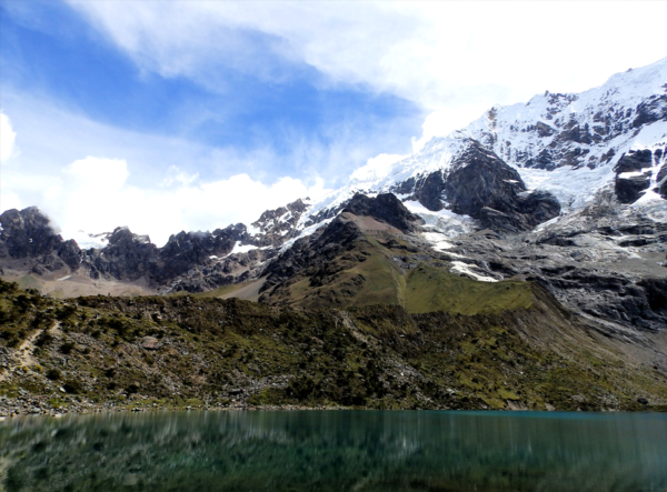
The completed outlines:
<svg viewBox="0 0 667 492">
<path fill-rule="evenodd" d="M 0 422 L 0 490 L 667 491 L 667 415 L 258 411 Z"/>
</svg>

